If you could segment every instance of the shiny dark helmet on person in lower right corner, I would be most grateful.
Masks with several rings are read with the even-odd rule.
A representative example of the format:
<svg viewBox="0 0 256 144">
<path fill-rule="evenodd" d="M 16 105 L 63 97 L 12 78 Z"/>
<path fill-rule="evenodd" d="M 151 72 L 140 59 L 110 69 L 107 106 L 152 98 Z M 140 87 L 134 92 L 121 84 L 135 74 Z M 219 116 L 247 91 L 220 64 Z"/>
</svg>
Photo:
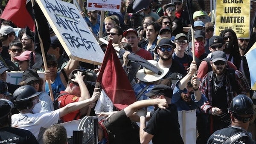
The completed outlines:
<svg viewBox="0 0 256 144">
<path fill-rule="evenodd" d="M 230 103 L 228 109 L 238 120 L 240 121 L 250 121 L 248 118 L 242 118 L 238 115 L 252 115 L 255 113 L 253 109 L 253 101 L 246 95 L 237 95 Z M 240 117 L 240 118 L 239 118 Z M 247 119 L 247 120 L 245 120 Z"/>
</svg>

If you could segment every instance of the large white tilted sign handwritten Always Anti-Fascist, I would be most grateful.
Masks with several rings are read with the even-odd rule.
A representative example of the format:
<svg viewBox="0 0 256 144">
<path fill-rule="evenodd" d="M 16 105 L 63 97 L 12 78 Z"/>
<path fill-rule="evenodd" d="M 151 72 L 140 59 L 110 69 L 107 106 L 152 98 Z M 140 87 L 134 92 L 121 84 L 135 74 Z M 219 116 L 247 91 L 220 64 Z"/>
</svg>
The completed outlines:
<svg viewBox="0 0 256 144">
<path fill-rule="evenodd" d="M 104 53 L 75 5 L 61 0 L 37 3 L 70 58 L 101 65 Z"/>
</svg>

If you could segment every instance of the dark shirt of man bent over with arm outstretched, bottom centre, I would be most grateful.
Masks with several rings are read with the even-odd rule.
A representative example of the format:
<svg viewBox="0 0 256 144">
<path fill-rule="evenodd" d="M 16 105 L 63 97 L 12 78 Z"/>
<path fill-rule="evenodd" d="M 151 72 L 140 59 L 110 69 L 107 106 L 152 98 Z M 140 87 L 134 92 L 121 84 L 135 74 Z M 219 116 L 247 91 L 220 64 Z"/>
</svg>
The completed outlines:
<svg viewBox="0 0 256 144">
<path fill-rule="evenodd" d="M 140 144 L 140 128 L 124 110 L 112 115 L 103 123 L 108 130 L 110 144 Z"/>
</svg>

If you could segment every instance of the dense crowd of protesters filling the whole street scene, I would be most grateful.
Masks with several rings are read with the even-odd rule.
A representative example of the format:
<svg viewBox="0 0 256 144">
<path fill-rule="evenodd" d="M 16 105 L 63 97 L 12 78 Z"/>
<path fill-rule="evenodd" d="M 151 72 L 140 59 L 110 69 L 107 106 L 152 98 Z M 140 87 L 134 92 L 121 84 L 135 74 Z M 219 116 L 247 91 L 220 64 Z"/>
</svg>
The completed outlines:
<svg viewBox="0 0 256 144">
<path fill-rule="evenodd" d="M 68 58 L 52 32 L 46 70 L 35 33 L 1 20 L 0 144 L 67 144 L 59 123 L 86 115 L 104 117 L 95 133 L 101 144 L 256 144 L 256 92 L 242 61 L 249 39 L 232 29 L 214 35 L 203 0 L 195 4 L 194 29 L 183 0 L 135 1 L 122 0 L 121 12 L 105 13 L 102 22 L 100 11 L 80 12 L 96 40 L 126 50 L 118 56 L 137 101 L 120 111 L 90 111 L 101 95 L 99 66 Z M 107 44 L 99 45 L 105 52 Z M 129 60 L 131 53 L 160 73 Z M 23 72 L 18 85 L 6 82 L 11 71 Z"/>
</svg>

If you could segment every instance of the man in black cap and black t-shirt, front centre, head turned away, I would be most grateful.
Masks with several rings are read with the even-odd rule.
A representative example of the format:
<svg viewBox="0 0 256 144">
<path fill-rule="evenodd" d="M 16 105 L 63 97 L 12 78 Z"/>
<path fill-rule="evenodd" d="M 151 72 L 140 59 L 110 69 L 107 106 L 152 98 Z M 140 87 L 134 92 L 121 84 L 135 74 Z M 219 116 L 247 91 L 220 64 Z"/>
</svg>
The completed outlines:
<svg viewBox="0 0 256 144">
<path fill-rule="evenodd" d="M 153 100 L 165 99 L 168 106 L 164 109 L 155 107 L 148 114 L 145 110 L 137 111 L 140 117 L 141 144 L 148 144 L 151 139 L 153 144 L 184 144 L 180 136 L 177 107 L 171 102 L 172 88 L 159 84 L 145 95 Z M 150 118 L 147 125 L 146 118 Z"/>
</svg>

